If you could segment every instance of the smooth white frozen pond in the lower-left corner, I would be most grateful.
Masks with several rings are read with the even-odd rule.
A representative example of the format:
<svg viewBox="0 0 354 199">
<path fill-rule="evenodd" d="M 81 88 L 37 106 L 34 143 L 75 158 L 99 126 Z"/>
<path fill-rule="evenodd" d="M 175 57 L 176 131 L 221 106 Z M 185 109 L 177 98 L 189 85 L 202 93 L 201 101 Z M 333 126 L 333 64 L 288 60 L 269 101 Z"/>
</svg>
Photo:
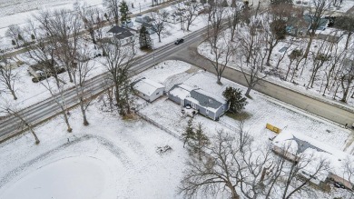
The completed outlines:
<svg viewBox="0 0 354 199">
<path fill-rule="evenodd" d="M 89 156 L 60 159 L 25 175 L 2 198 L 100 198 L 110 178 L 108 170 Z"/>
</svg>

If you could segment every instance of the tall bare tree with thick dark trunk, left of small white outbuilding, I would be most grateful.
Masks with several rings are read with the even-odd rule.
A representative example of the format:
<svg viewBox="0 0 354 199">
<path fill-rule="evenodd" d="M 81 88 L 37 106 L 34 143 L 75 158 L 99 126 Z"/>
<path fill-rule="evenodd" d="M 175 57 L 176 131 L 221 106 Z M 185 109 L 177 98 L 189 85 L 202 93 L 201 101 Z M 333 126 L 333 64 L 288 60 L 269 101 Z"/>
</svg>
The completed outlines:
<svg viewBox="0 0 354 199">
<path fill-rule="evenodd" d="M 114 97 L 119 113 L 123 116 L 131 114 L 130 95 L 132 90 L 129 75 L 132 73 L 134 53 L 130 46 L 123 46 L 117 40 L 104 44 L 103 50 L 106 53 L 104 65 L 113 83 Z"/>
</svg>

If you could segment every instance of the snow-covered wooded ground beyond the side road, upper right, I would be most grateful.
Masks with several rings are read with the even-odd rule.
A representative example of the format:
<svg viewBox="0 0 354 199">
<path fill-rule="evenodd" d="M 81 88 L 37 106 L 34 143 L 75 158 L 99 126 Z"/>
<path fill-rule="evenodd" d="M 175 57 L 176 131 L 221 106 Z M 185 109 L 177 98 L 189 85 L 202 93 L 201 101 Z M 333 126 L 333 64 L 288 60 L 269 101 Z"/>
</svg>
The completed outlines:
<svg viewBox="0 0 354 199">
<path fill-rule="evenodd" d="M 241 27 L 239 31 L 244 31 Z M 228 36 L 228 32 L 225 31 L 226 37 Z M 338 44 L 338 52 L 341 52 L 340 50 L 344 49 L 345 43 L 346 43 L 347 36 L 343 35 L 341 39 L 339 40 Z M 347 103 L 342 103 L 339 100 L 342 97 L 343 94 L 343 89 L 341 86 L 338 84 L 334 85 L 333 83 L 329 84 L 329 88 L 327 89 L 326 92 L 324 92 L 324 87 L 326 85 L 326 74 L 329 71 L 329 66 L 330 63 L 325 63 L 324 66 L 320 67 L 319 72 L 317 73 L 315 77 L 315 81 L 313 84 L 313 87 L 308 88 L 309 82 L 310 82 L 310 77 L 312 74 L 312 68 L 313 68 L 313 54 L 316 54 L 319 51 L 319 48 L 322 46 L 323 41 L 320 39 L 314 39 L 313 43 L 310 48 L 310 55 L 305 62 L 304 60 L 300 64 L 300 70 L 295 71 L 294 79 L 292 82 L 290 82 L 291 75 L 294 71 L 295 64 L 294 62 L 292 63 L 290 73 L 288 75 L 287 81 L 284 81 L 284 77 L 287 74 L 287 70 L 290 65 L 290 58 L 288 55 L 290 55 L 291 51 L 294 49 L 305 49 L 307 45 L 307 40 L 306 38 L 294 38 L 292 36 L 287 36 L 287 38 L 283 41 L 280 41 L 278 45 L 276 45 L 273 49 L 272 55 L 270 56 L 270 66 L 263 65 L 263 73 L 262 75 L 268 74 L 267 77 L 265 78 L 266 80 L 277 84 L 277 85 L 282 85 L 285 87 L 288 87 L 292 90 L 299 91 L 300 93 L 304 95 L 310 95 L 311 97 L 316 97 L 319 100 L 324 100 L 329 102 L 330 104 L 339 104 L 342 106 L 348 106 L 349 108 L 354 107 L 354 98 L 351 98 L 350 96 L 353 95 L 354 89 L 353 86 L 349 88 L 349 95 L 347 97 Z M 229 40 L 226 40 L 229 41 Z M 222 44 L 221 44 L 222 45 Z M 354 45 L 352 45 L 353 47 Z M 280 59 L 280 57 L 284 53 L 280 53 L 280 49 L 283 47 L 289 47 L 288 51 L 286 52 L 287 55 L 284 56 L 283 60 L 280 62 L 280 65 L 278 68 L 276 68 L 277 62 Z M 333 50 L 334 51 L 334 50 Z M 215 56 L 211 55 L 211 50 L 210 50 L 210 45 L 208 43 L 202 43 L 198 47 L 198 52 L 199 54 L 214 60 Z M 264 53 L 264 52 L 263 52 Z M 350 55 L 350 52 L 349 52 Z M 241 59 L 239 58 L 240 55 L 233 55 L 231 58 L 231 61 L 228 63 L 228 66 L 231 68 L 236 68 L 240 70 L 241 67 Z M 244 64 L 243 64 L 244 65 Z M 339 64 L 338 64 L 339 65 Z M 339 67 L 339 66 L 337 66 Z M 338 69 L 337 69 L 338 70 Z M 276 74 L 270 75 L 270 71 L 276 71 Z M 331 80 L 333 82 L 333 80 Z M 333 99 L 334 93 L 337 92 L 335 99 Z M 325 94 L 325 95 L 323 95 Z"/>
</svg>

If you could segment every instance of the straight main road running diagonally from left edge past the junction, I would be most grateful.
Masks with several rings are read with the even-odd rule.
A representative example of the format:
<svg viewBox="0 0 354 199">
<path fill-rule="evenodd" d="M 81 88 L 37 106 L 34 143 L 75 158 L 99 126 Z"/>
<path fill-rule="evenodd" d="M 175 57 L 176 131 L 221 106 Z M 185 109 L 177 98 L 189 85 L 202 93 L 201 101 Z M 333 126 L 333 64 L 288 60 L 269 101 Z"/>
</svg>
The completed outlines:
<svg viewBox="0 0 354 199">
<path fill-rule="evenodd" d="M 204 32 L 204 29 L 193 32 L 191 35 L 185 37 L 186 42 L 182 45 L 164 45 L 155 50 L 155 55 L 149 54 L 136 59 L 133 65 L 133 74 L 141 73 L 143 70 L 151 67 L 156 63 L 168 60 L 168 56 L 172 55 L 173 52 L 182 50 L 188 45 L 191 45 L 193 41 L 197 40 L 200 35 Z M 154 57 L 154 58 L 153 58 Z M 97 95 L 104 91 L 104 86 L 106 80 L 108 79 L 108 74 L 98 75 L 89 80 L 86 84 L 86 90 L 90 89 L 90 95 Z M 78 104 L 78 99 L 74 92 L 74 88 L 67 90 L 64 93 L 65 104 L 68 107 L 72 107 Z M 55 98 L 51 97 L 43 102 L 34 104 L 22 111 L 20 114 L 23 115 L 27 121 L 33 125 L 40 124 L 45 120 L 54 117 L 56 114 L 61 112 L 59 106 L 55 103 Z M 15 116 L 8 116 L 0 121 L 0 141 L 5 140 L 8 137 L 13 136 L 21 132 L 21 123 Z"/>
</svg>

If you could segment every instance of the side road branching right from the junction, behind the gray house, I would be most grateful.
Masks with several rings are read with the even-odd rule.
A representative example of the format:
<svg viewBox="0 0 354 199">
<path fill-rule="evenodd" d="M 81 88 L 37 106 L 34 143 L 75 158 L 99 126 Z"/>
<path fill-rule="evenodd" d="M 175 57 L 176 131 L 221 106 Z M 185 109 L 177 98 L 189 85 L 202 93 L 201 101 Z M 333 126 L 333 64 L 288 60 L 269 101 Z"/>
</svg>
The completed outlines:
<svg viewBox="0 0 354 199">
<path fill-rule="evenodd" d="M 174 53 L 171 58 L 179 59 L 181 61 L 205 68 L 207 71 L 216 74 L 215 69 L 210 61 L 205 59 L 202 55 L 197 53 L 197 46 L 202 42 L 202 38 L 196 40 L 186 50 Z M 227 67 L 222 75 L 233 82 L 240 85 L 247 86 L 246 80 L 240 71 Z M 272 84 L 268 81 L 261 81 L 261 85 L 256 85 L 254 90 L 262 94 L 269 95 L 275 99 L 280 100 L 286 104 L 291 104 L 310 114 L 320 115 L 321 117 L 333 121 L 338 124 L 352 124 L 354 123 L 354 110 L 345 109 L 344 107 L 331 105 L 299 92 L 292 91 L 286 87 Z"/>
</svg>

